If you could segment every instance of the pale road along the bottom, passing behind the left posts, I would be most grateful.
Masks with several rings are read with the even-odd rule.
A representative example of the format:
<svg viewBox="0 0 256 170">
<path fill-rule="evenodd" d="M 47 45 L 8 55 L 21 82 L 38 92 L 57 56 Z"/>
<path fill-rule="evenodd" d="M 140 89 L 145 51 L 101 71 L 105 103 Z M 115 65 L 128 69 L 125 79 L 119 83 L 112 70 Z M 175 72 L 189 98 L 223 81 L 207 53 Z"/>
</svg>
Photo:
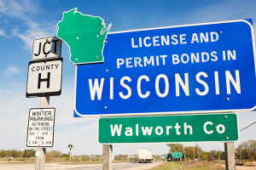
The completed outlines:
<svg viewBox="0 0 256 170">
<path fill-rule="evenodd" d="M 152 163 L 124 162 L 113 163 L 113 169 L 119 170 L 144 170 L 160 165 L 162 161 L 154 161 Z M 34 163 L 24 164 L 0 164 L 0 169 L 6 170 L 34 170 Z M 62 165 L 61 163 L 46 163 L 45 170 L 102 170 L 102 164 L 83 164 L 83 165 Z"/>
</svg>

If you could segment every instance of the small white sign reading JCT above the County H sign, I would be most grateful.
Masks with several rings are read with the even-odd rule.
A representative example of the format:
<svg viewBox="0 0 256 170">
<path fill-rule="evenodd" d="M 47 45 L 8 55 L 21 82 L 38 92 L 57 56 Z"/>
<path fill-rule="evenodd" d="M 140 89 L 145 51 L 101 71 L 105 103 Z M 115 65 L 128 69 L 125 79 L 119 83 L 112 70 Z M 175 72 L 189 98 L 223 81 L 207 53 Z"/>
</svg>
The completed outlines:
<svg viewBox="0 0 256 170">
<path fill-rule="evenodd" d="M 32 48 L 32 60 L 61 57 L 61 39 L 44 37 L 35 39 Z"/>
</svg>

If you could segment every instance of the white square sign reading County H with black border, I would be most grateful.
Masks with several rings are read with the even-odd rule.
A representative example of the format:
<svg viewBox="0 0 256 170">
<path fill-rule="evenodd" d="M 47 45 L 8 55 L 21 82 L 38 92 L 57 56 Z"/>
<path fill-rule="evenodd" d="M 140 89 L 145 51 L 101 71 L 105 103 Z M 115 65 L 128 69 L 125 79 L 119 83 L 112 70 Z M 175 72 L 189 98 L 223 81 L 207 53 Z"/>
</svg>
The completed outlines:
<svg viewBox="0 0 256 170">
<path fill-rule="evenodd" d="M 61 94 L 62 58 L 30 61 L 27 71 L 26 97 Z"/>
</svg>

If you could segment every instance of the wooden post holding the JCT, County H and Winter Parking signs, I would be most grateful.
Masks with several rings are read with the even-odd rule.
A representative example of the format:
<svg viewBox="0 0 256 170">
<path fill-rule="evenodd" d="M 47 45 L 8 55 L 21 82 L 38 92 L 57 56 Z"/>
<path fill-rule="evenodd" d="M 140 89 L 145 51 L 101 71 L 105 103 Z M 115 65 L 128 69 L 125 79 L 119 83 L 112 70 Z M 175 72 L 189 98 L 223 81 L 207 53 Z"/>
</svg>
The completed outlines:
<svg viewBox="0 0 256 170">
<path fill-rule="evenodd" d="M 49 107 L 49 96 L 40 98 L 40 107 Z M 36 159 L 36 170 L 44 170 L 46 148 L 37 148 L 41 156 Z"/>
</svg>

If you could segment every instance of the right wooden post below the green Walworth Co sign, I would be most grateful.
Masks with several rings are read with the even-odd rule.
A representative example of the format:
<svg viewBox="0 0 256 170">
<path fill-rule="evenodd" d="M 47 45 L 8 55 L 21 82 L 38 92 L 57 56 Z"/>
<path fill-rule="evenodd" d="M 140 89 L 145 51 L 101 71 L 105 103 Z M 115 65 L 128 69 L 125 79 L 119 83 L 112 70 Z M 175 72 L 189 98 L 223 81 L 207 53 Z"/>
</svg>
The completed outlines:
<svg viewBox="0 0 256 170">
<path fill-rule="evenodd" d="M 235 147 L 234 142 L 224 143 L 226 170 L 235 170 Z"/>
</svg>

